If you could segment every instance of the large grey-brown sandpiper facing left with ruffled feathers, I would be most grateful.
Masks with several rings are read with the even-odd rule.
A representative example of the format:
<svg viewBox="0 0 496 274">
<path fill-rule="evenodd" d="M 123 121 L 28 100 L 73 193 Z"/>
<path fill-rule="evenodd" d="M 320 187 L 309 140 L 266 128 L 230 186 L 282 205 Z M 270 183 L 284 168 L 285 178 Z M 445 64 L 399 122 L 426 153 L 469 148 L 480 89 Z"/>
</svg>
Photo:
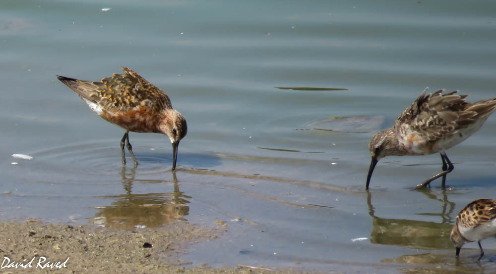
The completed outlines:
<svg viewBox="0 0 496 274">
<path fill-rule="evenodd" d="M 453 164 L 446 156 L 448 149 L 479 130 L 489 115 L 496 109 L 496 98 L 478 102 L 467 102 L 465 95 L 457 91 L 442 93 L 436 91 L 426 95 L 426 88 L 420 96 L 396 118 L 392 128 L 376 133 L 369 150 L 372 161 L 367 175 L 366 189 L 377 162 L 386 156 L 441 154 L 442 172 L 417 185 L 423 187 L 442 176 L 442 187 L 446 174 L 453 170 Z"/>
</svg>

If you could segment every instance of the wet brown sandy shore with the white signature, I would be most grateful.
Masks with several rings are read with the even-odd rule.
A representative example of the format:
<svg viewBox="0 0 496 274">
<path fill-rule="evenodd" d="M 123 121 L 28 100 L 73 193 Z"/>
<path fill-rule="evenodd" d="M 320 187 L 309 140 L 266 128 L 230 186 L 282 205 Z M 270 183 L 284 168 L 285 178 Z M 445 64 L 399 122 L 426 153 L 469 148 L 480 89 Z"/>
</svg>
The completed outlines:
<svg viewBox="0 0 496 274">
<path fill-rule="evenodd" d="M 187 252 L 188 246 L 215 240 L 226 231 L 225 226 L 208 228 L 175 222 L 156 229 L 129 231 L 28 220 L 1 222 L 0 228 L 3 267 L 0 270 L 3 273 L 267 272 L 242 266 L 237 269 L 213 269 L 206 265 L 188 268 L 191 263 L 182 261 L 180 257 Z M 294 273 L 293 270 L 270 271 L 288 272 Z"/>
</svg>

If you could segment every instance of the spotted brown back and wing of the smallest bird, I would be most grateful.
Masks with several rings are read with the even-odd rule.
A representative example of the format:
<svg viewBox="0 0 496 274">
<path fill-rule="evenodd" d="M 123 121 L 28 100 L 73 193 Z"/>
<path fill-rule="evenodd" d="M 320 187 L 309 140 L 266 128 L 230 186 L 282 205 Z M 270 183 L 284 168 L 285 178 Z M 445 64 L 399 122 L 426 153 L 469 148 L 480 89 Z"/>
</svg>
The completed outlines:
<svg viewBox="0 0 496 274">
<path fill-rule="evenodd" d="M 465 228 L 478 228 L 495 218 L 496 201 L 483 198 L 475 200 L 463 208 L 456 216 L 456 223 Z"/>
</svg>

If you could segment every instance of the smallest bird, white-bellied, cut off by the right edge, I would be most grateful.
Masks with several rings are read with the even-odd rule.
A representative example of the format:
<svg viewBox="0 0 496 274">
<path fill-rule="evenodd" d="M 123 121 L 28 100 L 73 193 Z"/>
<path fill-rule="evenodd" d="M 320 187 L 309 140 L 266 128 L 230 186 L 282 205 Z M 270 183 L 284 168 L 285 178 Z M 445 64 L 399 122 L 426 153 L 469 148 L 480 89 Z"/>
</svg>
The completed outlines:
<svg viewBox="0 0 496 274">
<path fill-rule="evenodd" d="M 451 241 L 456 246 L 456 258 L 460 255 L 460 249 L 467 242 L 479 244 L 481 256 L 484 250 L 481 240 L 496 235 L 496 201 L 488 198 L 478 199 L 465 208 L 456 216 L 456 224 L 451 229 Z"/>
</svg>

